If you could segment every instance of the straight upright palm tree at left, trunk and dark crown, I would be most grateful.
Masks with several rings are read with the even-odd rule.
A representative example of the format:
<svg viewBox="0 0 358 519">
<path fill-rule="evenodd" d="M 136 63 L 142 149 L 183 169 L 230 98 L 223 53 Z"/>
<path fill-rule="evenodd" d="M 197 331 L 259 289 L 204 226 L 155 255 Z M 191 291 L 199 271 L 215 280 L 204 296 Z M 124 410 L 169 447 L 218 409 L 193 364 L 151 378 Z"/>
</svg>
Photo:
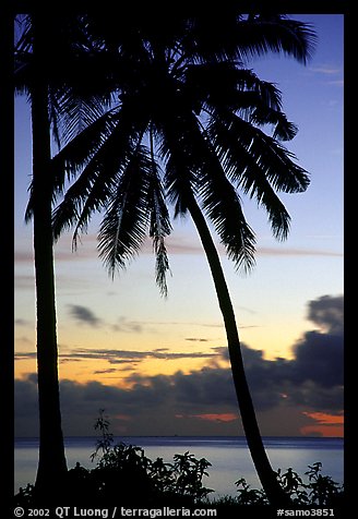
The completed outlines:
<svg viewBox="0 0 358 519">
<path fill-rule="evenodd" d="M 60 412 L 51 227 L 53 185 L 49 173 L 52 136 L 60 144 L 61 119 L 75 124 L 73 113 L 79 119 L 83 104 L 88 120 L 92 116 L 98 117 L 105 96 L 99 99 L 84 86 L 91 55 L 87 48 L 85 51 L 83 48 L 85 32 L 79 16 L 31 14 L 17 15 L 15 21 L 14 86 L 15 93 L 26 94 L 31 102 L 33 141 L 31 205 L 25 218 L 27 221 L 33 219 L 36 279 L 39 461 L 35 486 L 48 496 L 52 491 L 61 492 L 61 482 L 67 473 Z M 104 89 L 103 81 L 102 92 Z M 72 113 L 62 110 L 63 99 L 67 107 L 71 99 L 72 107 L 77 110 L 72 110 Z M 57 484 L 53 484 L 55 481 Z"/>
</svg>

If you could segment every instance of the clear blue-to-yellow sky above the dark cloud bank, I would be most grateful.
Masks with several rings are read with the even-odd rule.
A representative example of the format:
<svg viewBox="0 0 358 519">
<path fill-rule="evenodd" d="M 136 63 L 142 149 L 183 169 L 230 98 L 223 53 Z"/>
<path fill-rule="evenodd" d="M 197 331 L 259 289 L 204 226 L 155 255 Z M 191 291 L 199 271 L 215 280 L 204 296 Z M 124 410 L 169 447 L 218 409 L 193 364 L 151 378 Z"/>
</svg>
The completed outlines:
<svg viewBox="0 0 358 519">
<path fill-rule="evenodd" d="M 305 67 L 288 58 L 270 57 L 253 60 L 248 63 L 248 68 L 253 69 L 261 79 L 276 83 L 282 90 L 283 110 L 299 129 L 287 147 L 296 155 L 298 164 L 310 172 L 311 184 L 306 193 L 282 196 L 291 216 L 291 230 L 285 242 L 273 239 L 266 215 L 254 202 L 243 198 L 244 214 L 256 233 L 255 268 L 252 274 L 242 275 L 235 271 L 224 252 L 222 261 L 240 338 L 249 348 L 252 359 L 255 359 L 255 365 L 270 366 L 271 370 L 278 365 L 279 358 L 285 359 L 286 363 L 291 362 L 289 370 L 294 372 L 294 363 L 298 365 L 298 351 L 303 351 L 302 345 L 311 338 L 308 333 L 325 334 L 325 338 L 329 338 L 332 327 L 327 325 L 326 303 L 332 303 L 332 309 L 341 304 L 343 295 L 344 17 L 339 14 L 294 14 L 291 17 L 311 23 L 318 34 L 318 47 L 312 60 Z M 29 179 L 29 112 L 26 100 L 17 98 L 15 351 L 19 353 L 16 376 L 22 387 L 27 384 L 27 389 L 33 388 L 31 374 L 36 371 L 32 227 L 25 226 L 23 219 Z M 108 388 L 118 391 L 132 388 L 134 391 L 142 386 L 154 390 L 159 376 L 178 381 L 178 373 L 182 373 L 198 382 L 200 374 L 214 370 L 214 363 L 216 370 L 227 370 L 222 350 L 225 347 L 222 316 L 206 260 L 191 222 L 177 221 L 168 240 L 172 276 L 168 279 L 167 300 L 160 297 L 155 286 L 154 256 L 150 244 L 128 270 L 115 280 L 108 277 L 96 253 L 97 224 L 98 220 L 91 226 L 76 253 L 71 252 L 69 234 L 63 236 L 56 245 L 58 336 L 60 352 L 68 355 L 61 360 L 60 374 L 63 381 L 68 381 L 68 389 L 71 385 L 71 391 L 80 386 L 84 390 L 91 384 L 97 384 L 95 387 L 98 391 L 105 393 Z M 318 302 L 326 312 L 326 326 L 323 328 L 317 317 L 312 319 L 312 302 Z M 301 350 L 298 345 L 301 345 Z M 122 352 L 116 362 L 109 355 L 109 351 L 114 350 Z M 157 351 L 157 354 L 145 353 L 150 351 Z M 143 358 L 146 359 L 145 363 L 140 361 Z M 262 398 L 262 394 L 259 394 L 261 397 L 256 398 Z M 295 398 L 290 397 L 289 406 L 285 407 L 286 415 L 296 424 L 296 432 L 310 426 L 313 429 L 305 431 L 314 432 L 314 424 L 319 420 L 317 413 L 321 413 L 321 419 L 322 413 L 339 417 L 341 411 L 336 406 L 330 409 L 327 403 L 322 403 L 327 401 L 327 396 L 325 400 L 322 397 L 320 405 L 311 402 L 311 407 L 306 408 L 297 398 L 296 406 Z M 19 409 L 22 409 L 20 403 Z M 111 402 L 110 406 L 115 405 Z M 262 420 L 268 424 L 267 409 L 263 409 Z M 208 408 L 206 411 L 205 414 L 211 415 Z M 226 413 L 229 417 L 231 411 L 228 403 L 222 413 L 218 408 L 213 413 L 223 417 Z M 93 412 L 96 414 L 96 409 Z M 112 412 L 117 412 L 115 408 Z M 272 412 L 279 415 L 284 411 L 275 407 Z M 192 417 L 196 414 L 191 411 Z M 24 424 L 25 418 L 20 411 L 19 417 Z M 129 427 L 127 433 L 138 432 L 140 422 L 132 426 L 131 420 L 132 417 L 123 419 L 123 423 L 118 426 L 123 432 Z M 192 420 L 191 426 L 195 431 L 201 431 L 201 423 L 207 426 L 207 421 L 203 420 L 195 426 L 193 423 Z M 336 423 L 333 421 L 331 426 Z M 19 426 L 23 429 L 21 423 Z M 230 420 L 223 418 L 213 431 L 231 434 L 235 429 L 230 426 Z M 190 431 L 190 421 L 183 431 Z M 274 431 L 270 430 L 272 433 Z M 146 432 L 143 431 L 143 434 Z"/>
</svg>

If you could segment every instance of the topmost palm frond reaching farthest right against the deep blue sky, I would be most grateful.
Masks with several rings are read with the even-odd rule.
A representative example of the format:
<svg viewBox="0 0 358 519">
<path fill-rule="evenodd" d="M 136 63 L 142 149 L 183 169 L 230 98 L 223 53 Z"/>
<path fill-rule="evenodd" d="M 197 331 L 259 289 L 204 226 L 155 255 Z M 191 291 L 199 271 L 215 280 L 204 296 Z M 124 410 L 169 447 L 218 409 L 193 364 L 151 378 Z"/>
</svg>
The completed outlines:
<svg viewBox="0 0 358 519">
<path fill-rule="evenodd" d="M 312 56 L 317 36 L 310 24 L 285 14 L 237 12 L 237 5 L 223 10 L 206 7 L 205 14 L 190 19 L 188 36 L 181 40 L 182 55 L 192 63 L 239 60 L 268 52 L 284 53 L 306 63 Z"/>
</svg>

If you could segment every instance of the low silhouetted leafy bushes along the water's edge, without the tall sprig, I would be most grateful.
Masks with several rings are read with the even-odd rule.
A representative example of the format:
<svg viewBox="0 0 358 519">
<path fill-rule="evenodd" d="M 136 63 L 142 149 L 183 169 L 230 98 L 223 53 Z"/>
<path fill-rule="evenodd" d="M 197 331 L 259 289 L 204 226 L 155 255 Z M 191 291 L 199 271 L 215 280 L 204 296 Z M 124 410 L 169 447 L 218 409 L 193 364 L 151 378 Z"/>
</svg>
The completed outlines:
<svg viewBox="0 0 358 519">
<path fill-rule="evenodd" d="M 163 458 L 154 461 L 145 456 L 144 449 L 135 445 L 119 443 L 109 447 L 94 469 L 79 462 L 68 472 L 67 503 L 77 505 L 167 505 L 167 506 L 265 506 L 270 505 L 262 488 L 252 488 L 244 478 L 235 482 L 237 496 L 208 498 L 214 492 L 203 485 L 211 467 L 205 458 L 198 459 L 186 451 L 175 455 L 171 463 Z M 309 481 L 288 468 L 277 471 L 281 486 L 289 495 L 293 508 L 335 508 L 343 503 L 344 487 L 329 475 L 321 473 L 322 463 L 309 466 L 305 472 Z M 53 483 L 56 484 L 56 483 Z M 20 488 L 15 505 L 29 506 L 34 503 L 34 485 Z"/>
</svg>

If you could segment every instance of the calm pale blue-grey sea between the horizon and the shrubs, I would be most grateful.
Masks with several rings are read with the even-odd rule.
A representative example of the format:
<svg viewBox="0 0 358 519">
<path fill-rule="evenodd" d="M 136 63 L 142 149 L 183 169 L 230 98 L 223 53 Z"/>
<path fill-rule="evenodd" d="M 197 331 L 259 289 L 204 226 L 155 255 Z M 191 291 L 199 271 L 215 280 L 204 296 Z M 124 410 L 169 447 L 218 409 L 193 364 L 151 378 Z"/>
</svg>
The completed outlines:
<svg viewBox="0 0 358 519">
<path fill-rule="evenodd" d="M 65 452 L 69 469 L 79 461 L 85 468 L 94 468 L 91 455 L 95 450 L 97 438 L 71 437 L 65 439 Z M 195 458 L 205 458 L 208 476 L 203 484 L 213 488 L 213 497 L 236 495 L 235 482 L 244 478 L 254 488 L 261 488 L 244 438 L 237 437 L 116 437 L 114 444 L 124 442 L 144 449 L 147 458 L 160 457 L 171 462 L 176 454 L 186 451 Z M 317 461 L 322 463 L 322 474 L 330 475 L 339 484 L 344 483 L 344 444 L 342 438 L 318 437 L 266 437 L 264 438 L 272 468 L 286 470 L 289 467 L 301 478 L 308 466 Z M 34 483 L 38 461 L 38 439 L 16 438 L 14 452 L 14 491 L 27 483 Z"/>
</svg>

